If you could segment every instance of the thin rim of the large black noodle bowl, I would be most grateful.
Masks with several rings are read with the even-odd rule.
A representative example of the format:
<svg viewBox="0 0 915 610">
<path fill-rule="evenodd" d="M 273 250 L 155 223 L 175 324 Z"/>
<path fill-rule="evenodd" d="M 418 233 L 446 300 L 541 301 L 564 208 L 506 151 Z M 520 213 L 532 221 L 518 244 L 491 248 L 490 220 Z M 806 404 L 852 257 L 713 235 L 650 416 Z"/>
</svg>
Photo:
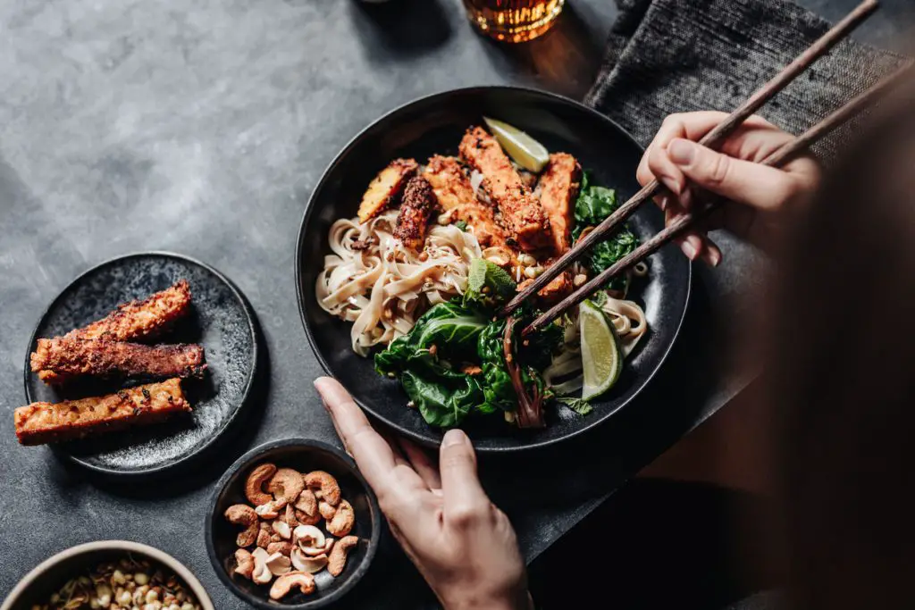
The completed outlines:
<svg viewBox="0 0 915 610">
<path fill-rule="evenodd" d="M 308 346 L 311 348 L 311 351 L 315 354 L 315 358 L 318 359 L 318 362 L 320 363 L 321 368 L 324 369 L 324 372 L 327 373 L 328 375 L 333 376 L 333 372 L 331 371 L 331 369 L 328 365 L 328 362 L 324 358 L 323 354 L 321 354 L 320 351 L 318 351 L 318 347 L 315 342 L 314 333 L 312 332 L 311 325 L 309 324 L 308 317 L 306 315 L 306 310 L 305 310 L 305 305 L 304 305 L 305 294 L 303 294 L 303 292 L 302 292 L 303 273 L 304 273 L 304 270 L 302 268 L 302 255 L 303 255 L 303 249 L 304 249 L 305 242 L 306 242 L 306 227 L 311 219 L 312 213 L 315 211 L 315 205 L 314 205 L 315 198 L 317 197 L 318 193 L 326 186 L 328 179 L 330 177 L 330 174 L 337 168 L 337 166 L 339 166 L 339 164 L 342 161 L 342 157 L 344 155 L 349 154 L 350 151 L 352 151 L 352 149 L 355 148 L 357 144 L 359 144 L 359 142 L 362 140 L 362 138 L 365 136 L 365 134 L 367 134 L 377 124 L 382 123 L 383 121 L 387 121 L 387 120 L 393 118 L 393 116 L 395 116 L 396 114 L 409 110 L 413 106 L 420 105 L 420 104 L 426 104 L 429 102 L 434 102 L 437 99 L 447 98 L 449 96 L 456 95 L 456 94 L 474 95 L 474 94 L 481 94 L 481 93 L 493 92 L 493 91 L 521 92 L 521 93 L 529 94 L 529 95 L 533 95 L 533 96 L 540 96 L 544 99 L 552 100 L 554 102 L 563 102 L 565 104 L 569 104 L 573 107 L 576 107 L 579 111 L 587 113 L 592 118 L 595 118 L 597 121 L 600 121 L 602 123 L 607 123 L 612 128 L 616 129 L 619 132 L 619 134 L 622 134 L 628 140 L 630 140 L 630 142 L 632 144 L 634 144 L 635 146 L 637 146 L 641 151 L 644 152 L 644 150 L 645 150 L 644 147 L 641 144 L 639 144 L 639 141 L 636 140 L 632 136 L 632 134 L 630 134 L 627 130 L 623 129 L 622 126 L 619 125 L 619 123 L 617 123 L 613 119 L 609 118 L 606 114 L 597 112 L 597 110 L 595 110 L 594 108 L 591 108 L 590 106 L 585 105 L 582 102 L 573 100 L 572 98 L 566 97 L 565 95 L 560 95 L 558 93 L 554 93 L 553 91 L 544 91 L 544 90 L 536 89 L 533 87 L 520 87 L 520 86 L 515 86 L 515 85 L 479 85 L 479 86 L 472 86 L 472 87 L 460 87 L 458 89 L 449 89 L 446 91 L 437 91 L 435 93 L 431 93 L 428 95 L 424 95 L 424 96 L 415 98 L 414 100 L 410 100 L 409 102 L 404 102 L 403 104 L 400 104 L 400 105 L 394 107 L 392 110 L 390 110 L 388 112 L 384 112 L 377 119 L 371 121 L 371 123 L 369 123 L 365 127 L 363 127 L 359 131 L 359 133 L 355 134 L 354 136 L 352 136 L 352 138 L 350 138 L 350 141 L 347 142 L 347 144 L 345 144 L 339 150 L 339 153 L 337 153 L 337 155 L 335 155 L 333 157 L 333 159 L 331 160 L 329 165 L 325 168 L 324 173 L 321 174 L 321 177 L 318 180 L 318 184 L 315 185 L 315 187 L 311 191 L 311 194 L 308 196 L 308 201 L 307 201 L 305 210 L 302 215 L 302 222 L 299 225 L 298 240 L 296 241 L 296 260 L 295 260 L 294 264 L 295 264 L 295 273 L 296 273 L 296 301 L 297 301 L 297 305 L 298 305 L 298 315 L 302 320 L 302 326 L 305 328 L 305 334 L 307 337 Z M 587 422 L 582 427 L 577 429 L 576 431 L 565 434 L 565 436 L 547 439 L 544 441 L 538 441 L 538 442 L 530 443 L 530 444 L 523 444 L 521 446 L 506 446 L 506 447 L 485 447 L 485 446 L 483 446 L 483 447 L 476 448 L 476 450 L 479 453 L 498 455 L 498 454 L 509 454 L 509 453 L 515 453 L 515 452 L 525 452 L 525 451 L 543 449 L 544 447 L 552 446 L 554 444 L 564 443 L 572 438 L 580 436 L 581 434 L 590 432 L 593 429 L 595 429 L 597 426 L 599 426 L 600 424 L 606 423 L 608 421 L 608 419 L 611 418 L 614 414 L 619 413 L 623 409 L 625 409 L 632 401 L 634 401 L 640 395 L 640 393 L 645 388 L 648 387 L 648 385 L 651 383 L 651 380 L 653 380 L 657 376 L 657 374 L 661 371 L 661 369 L 664 365 L 664 362 L 667 361 L 668 357 L 671 354 L 671 350 L 673 349 L 673 346 L 676 344 L 677 339 L 680 337 L 680 332 L 683 330 L 684 320 L 686 319 L 686 312 L 689 309 L 690 298 L 691 298 L 692 292 L 693 292 L 693 262 L 689 261 L 689 260 L 686 261 L 686 277 L 684 278 L 684 282 L 685 282 L 685 286 L 686 286 L 686 291 L 684 294 L 684 308 L 683 308 L 682 314 L 680 315 L 680 319 L 677 320 L 677 322 L 676 322 L 676 327 L 673 329 L 673 338 L 671 339 L 671 342 L 667 346 L 667 348 L 665 348 L 663 350 L 663 352 L 658 360 L 657 366 L 655 366 L 654 369 L 652 369 L 649 372 L 649 374 L 641 382 L 640 388 L 637 391 L 635 391 L 630 396 L 629 399 L 621 402 L 617 406 L 616 409 L 614 409 L 612 412 L 608 412 L 601 419 L 599 419 L 599 420 L 594 419 L 590 422 Z M 353 400 L 356 401 L 356 404 L 358 404 L 362 410 L 371 413 L 372 417 L 380 420 L 386 426 L 393 428 L 398 433 L 404 434 L 404 436 L 407 436 L 411 440 L 415 441 L 416 443 L 422 444 L 423 446 L 427 446 L 427 447 L 433 446 L 433 444 L 430 443 L 429 439 L 426 438 L 423 434 L 417 433 L 414 430 L 406 428 L 404 426 L 395 425 L 394 423 L 392 423 L 390 421 L 389 418 L 382 415 L 382 413 L 377 412 L 377 410 L 372 409 L 370 406 L 366 405 L 363 401 L 361 401 L 359 398 L 357 398 L 355 396 L 353 397 Z"/>
</svg>

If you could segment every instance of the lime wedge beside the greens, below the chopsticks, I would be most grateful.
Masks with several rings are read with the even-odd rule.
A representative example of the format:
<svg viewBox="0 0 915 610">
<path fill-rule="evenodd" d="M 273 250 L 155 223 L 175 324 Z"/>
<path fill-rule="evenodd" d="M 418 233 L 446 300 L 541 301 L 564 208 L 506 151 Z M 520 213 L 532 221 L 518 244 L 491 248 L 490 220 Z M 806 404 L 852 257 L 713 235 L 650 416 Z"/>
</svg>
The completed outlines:
<svg viewBox="0 0 915 610">
<path fill-rule="evenodd" d="M 623 369 L 623 354 L 619 337 L 607 314 L 590 301 L 578 307 L 581 330 L 581 361 L 585 385 L 581 397 L 585 401 L 597 398 L 613 387 Z"/>
</svg>

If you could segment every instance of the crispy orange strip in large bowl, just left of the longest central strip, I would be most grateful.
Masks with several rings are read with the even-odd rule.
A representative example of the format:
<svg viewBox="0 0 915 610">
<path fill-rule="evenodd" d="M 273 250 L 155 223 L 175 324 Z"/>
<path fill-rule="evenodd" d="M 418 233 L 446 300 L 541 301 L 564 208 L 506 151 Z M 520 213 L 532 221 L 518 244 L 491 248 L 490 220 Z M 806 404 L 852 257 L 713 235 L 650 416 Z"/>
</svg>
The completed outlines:
<svg viewBox="0 0 915 610">
<path fill-rule="evenodd" d="M 432 185 L 442 209 L 454 210 L 451 219 L 463 220 L 473 227 L 481 246 L 505 245 L 505 232 L 496 222 L 493 209 L 477 198 L 458 159 L 433 156 L 425 166 L 423 177 Z"/>
</svg>

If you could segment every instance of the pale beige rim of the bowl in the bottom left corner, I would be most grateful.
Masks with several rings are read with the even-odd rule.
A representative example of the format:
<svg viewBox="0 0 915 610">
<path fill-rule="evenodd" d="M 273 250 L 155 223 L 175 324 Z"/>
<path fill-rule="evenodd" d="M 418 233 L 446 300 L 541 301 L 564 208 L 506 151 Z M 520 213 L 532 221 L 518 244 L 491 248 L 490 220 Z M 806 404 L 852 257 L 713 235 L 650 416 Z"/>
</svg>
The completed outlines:
<svg viewBox="0 0 915 610">
<path fill-rule="evenodd" d="M 200 606 L 204 610 L 216 610 L 210 600 L 210 595 L 207 594 L 207 590 L 203 587 L 203 584 L 200 583 L 197 576 L 191 573 L 183 563 L 169 555 L 166 551 L 161 551 L 156 549 L 156 547 L 133 540 L 93 540 L 92 542 L 77 544 L 69 549 L 64 549 L 63 551 L 51 555 L 45 561 L 38 563 L 37 566 L 32 568 L 18 583 L 16 583 L 16 586 L 13 587 L 13 590 L 6 597 L 3 605 L 0 605 L 0 610 L 13 610 L 13 608 L 16 607 L 16 603 L 19 601 L 19 597 L 27 591 L 29 586 L 38 580 L 38 577 L 46 573 L 52 566 L 68 560 L 70 557 L 76 557 L 92 551 L 135 552 L 137 554 L 145 555 L 156 562 L 160 562 L 169 570 L 178 574 L 178 576 L 188 584 L 191 592 L 197 597 Z"/>
</svg>

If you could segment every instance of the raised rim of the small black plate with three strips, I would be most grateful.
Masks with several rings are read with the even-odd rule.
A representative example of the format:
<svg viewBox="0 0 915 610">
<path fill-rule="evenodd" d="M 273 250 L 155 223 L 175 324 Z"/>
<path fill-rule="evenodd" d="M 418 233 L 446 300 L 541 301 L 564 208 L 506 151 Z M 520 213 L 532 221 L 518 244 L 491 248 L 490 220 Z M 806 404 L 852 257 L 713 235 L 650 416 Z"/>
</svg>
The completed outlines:
<svg viewBox="0 0 915 610">
<path fill-rule="evenodd" d="M 218 280 L 220 280 L 223 284 L 228 286 L 232 296 L 234 296 L 234 298 L 239 303 L 242 304 L 242 309 L 244 310 L 244 313 L 245 313 L 245 319 L 248 323 L 248 330 L 251 332 L 252 367 L 251 367 L 251 371 L 249 371 L 249 373 L 248 373 L 247 378 L 244 380 L 244 391 L 242 393 L 242 400 L 240 401 L 238 408 L 236 408 L 235 411 L 231 414 L 228 421 L 223 423 L 221 428 L 219 429 L 219 431 L 212 435 L 212 437 L 210 438 L 210 441 L 199 446 L 197 449 L 195 449 L 191 453 L 189 453 L 187 455 L 182 455 L 182 456 L 178 457 L 178 459 L 176 459 L 175 461 L 169 462 L 168 464 L 164 464 L 162 466 L 139 468 L 136 470 L 117 470 L 117 469 L 109 468 L 106 466 L 96 466 L 95 464 L 92 464 L 92 462 L 90 462 L 88 460 L 82 459 L 81 457 L 78 457 L 77 455 L 73 455 L 69 451 L 65 451 L 62 447 L 59 447 L 57 444 L 49 445 L 51 451 L 54 452 L 54 455 L 59 455 L 59 456 L 65 458 L 66 460 L 68 460 L 69 462 L 71 462 L 77 466 L 80 466 L 82 468 L 86 468 L 87 470 L 97 473 L 98 475 L 107 476 L 107 477 L 111 477 L 111 478 L 129 479 L 131 477 L 139 477 L 139 476 L 159 476 L 174 468 L 180 468 L 182 466 L 186 466 L 188 464 L 188 462 L 193 461 L 194 459 L 198 458 L 200 455 L 205 454 L 207 451 L 212 449 L 215 445 L 220 444 L 220 442 L 222 440 L 224 440 L 223 437 L 224 437 L 225 433 L 230 429 L 230 427 L 233 423 L 238 421 L 240 414 L 245 411 L 245 406 L 248 405 L 248 402 L 251 400 L 252 391 L 253 391 L 253 387 L 254 387 L 254 380 L 256 379 L 258 370 L 261 367 L 261 342 L 259 339 L 260 329 L 258 326 L 259 323 L 257 321 L 257 317 L 254 314 L 252 305 L 248 302 L 248 299 L 245 297 L 244 293 L 242 293 L 242 290 L 238 286 L 236 286 L 229 279 L 229 277 L 227 277 L 225 274 L 221 273 L 221 271 L 219 271 L 218 269 L 216 269 L 215 267 L 213 267 L 212 265 L 210 265 L 206 262 L 199 261 L 198 259 L 195 259 L 194 257 L 188 256 L 186 254 L 179 254 L 178 252 L 165 251 L 165 250 L 127 252 L 126 254 L 119 254 L 119 255 L 113 256 L 109 259 L 105 259 L 104 261 L 99 262 L 97 264 L 94 264 L 89 269 L 86 269 L 85 271 L 83 271 L 82 273 L 80 273 L 79 275 L 74 277 L 66 286 L 64 286 L 63 288 L 61 288 L 58 291 L 58 294 L 56 296 L 54 296 L 53 299 L 50 300 L 48 305 L 41 312 L 41 315 L 38 316 L 38 321 L 35 323 L 35 327 L 32 329 L 32 334 L 28 339 L 28 347 L 26 349 L 26 363 L 23 367 L 22 381 L 23 381 L 23 387 L 26 392 L 26 402 L 27 403 L 32 402 L 31 391 L 29 391 L 29 388 L 28 388 L 28 381 L 31 379 L 31 375 L 33 374 L 31 365 L 30 365 L 31 353 L 32 353 L 32 350 L 35 348 L 36 342 L 38 341 L 38 328 L 45 321 L 45 318 L 48 316 L 48 313 L 51 311 L 51 309 L 55 305 L 58 305 L 60 299 L 63 297 L 63 295 L 65 293 L 68 293 L 71 288 L 73 288 L 74 286 L 79 284 L 90 273 L 95 273 L 95 272 L 101 270 L 102 268 L 112 265 L 113 263 L 116 263 L 116 262 L 120 262 L 120 261 L 123 261 L 126 259 L 135 259 L 135 258 L 139 258 L 139 257 L 143 257 L 143 256 L 161 256 L 164 258 L 177 259 L 178 261 L 181 261 L 181 262 L 188 262 L 190 264 L 198 265 L 205 271 L 212 273 L 214 276 L 216 276 L 216 278 Z"/>
</svg>

